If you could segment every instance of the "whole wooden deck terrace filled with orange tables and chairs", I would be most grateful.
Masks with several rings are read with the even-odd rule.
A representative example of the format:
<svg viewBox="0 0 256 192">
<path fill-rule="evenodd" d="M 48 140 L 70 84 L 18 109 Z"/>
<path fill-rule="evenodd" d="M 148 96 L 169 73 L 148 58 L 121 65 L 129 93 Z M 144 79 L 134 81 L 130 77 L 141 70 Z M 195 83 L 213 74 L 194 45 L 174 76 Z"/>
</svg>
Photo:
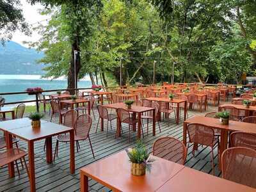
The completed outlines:
<svg viewBox="0 0 256 192">
<path fill-rule="evenodd" d="M 0 99 L 0 191 L 256 191 L 254 88 L 73 91 Z"/>
</svg>

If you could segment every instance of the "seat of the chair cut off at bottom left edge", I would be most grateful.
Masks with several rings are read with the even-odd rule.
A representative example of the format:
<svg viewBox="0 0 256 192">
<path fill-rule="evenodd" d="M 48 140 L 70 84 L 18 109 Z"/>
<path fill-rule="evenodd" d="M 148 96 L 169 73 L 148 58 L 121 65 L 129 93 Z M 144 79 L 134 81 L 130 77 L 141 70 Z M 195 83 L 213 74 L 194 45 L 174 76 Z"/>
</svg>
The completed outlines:
<svg viewBox="0 0 256 192">
<path fill-rule="evenodd" d="M 24 156 L 26 156 L 27 152 L 24 150 L 21 150 L 19 148 L 11 148 L 6 150 L 3 153 L 0 153 L 0 166 L 4 166 L 5 164 L 12 163 L 13 161 L 16 161 L 17 159 L 20 159 Z"/>
</svg>

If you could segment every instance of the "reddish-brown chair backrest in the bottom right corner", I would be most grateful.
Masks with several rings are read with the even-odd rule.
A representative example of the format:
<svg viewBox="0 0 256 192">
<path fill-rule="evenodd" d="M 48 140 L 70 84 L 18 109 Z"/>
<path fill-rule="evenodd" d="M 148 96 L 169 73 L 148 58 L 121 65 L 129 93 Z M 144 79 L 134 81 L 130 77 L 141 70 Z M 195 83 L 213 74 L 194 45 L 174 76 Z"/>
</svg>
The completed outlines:
<svg viewBox="0 0 256 192">
<path fill-rule="evenodd" d="M 221 156 L 223 179 L 256 188 L 256 150 L 247 147 L 227 148 Z"/>
</svg>

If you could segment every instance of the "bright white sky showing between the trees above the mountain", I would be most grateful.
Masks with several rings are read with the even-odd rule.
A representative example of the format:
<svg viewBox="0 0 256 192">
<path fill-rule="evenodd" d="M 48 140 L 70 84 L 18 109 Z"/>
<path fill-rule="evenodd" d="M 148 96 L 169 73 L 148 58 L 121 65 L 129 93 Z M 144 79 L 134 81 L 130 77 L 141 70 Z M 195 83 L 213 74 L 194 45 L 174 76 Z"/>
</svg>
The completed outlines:
<svg viewBox="0 0 256 192">
<path fill-rule="evenodd" d="M 34 24 L 33 26 L 36 26 L 37 22 L 41 22 L 42 20 L 49 19 L 49 16 L 45 16 L 45 15 L 43 16 L 43 15 L 40 15 L 40 13 L 38 13 L 38 10 L 44 8 L 44 6 L 42 6 L 41 4 L 35 4 L 32 6 L 31 4 L 27 3 L 26 0 L 20 0 L 20 3 L 22 4 L 21 8 L 23 10 L 24 18 L 26 19 L 26 22 L 28 22 L 28 24 Z M 22 44 L 22 42 L 23 41 L 35 42 L 39 38 L 40 38 L 40 35 L 38 35 L 38 33 L 35 33 L 35 32 L 33 32 L 31 36 L 26 36 L 20 31 L 16 31 L 15 33 L 13 33 L 12 41 L 17 42 L 25 47 L 28 47 L 28 45 Z"/>
</svg>

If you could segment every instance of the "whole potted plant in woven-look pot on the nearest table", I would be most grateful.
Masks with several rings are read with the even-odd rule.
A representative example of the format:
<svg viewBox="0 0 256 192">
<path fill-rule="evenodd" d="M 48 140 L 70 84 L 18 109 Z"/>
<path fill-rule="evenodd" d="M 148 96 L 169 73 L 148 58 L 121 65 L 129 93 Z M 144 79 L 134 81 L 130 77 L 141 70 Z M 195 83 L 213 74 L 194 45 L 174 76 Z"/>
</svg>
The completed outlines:
<svg viewBox="0 0 256 192">
<path fill-rule="evenodd" d="M 126 149 L 126 152 L 129 157 L 129 161 L 131 162 L 132 175 L 145 175 L 146 170 L 150 172 L 154 159 L 148 158 L 150 153 L 145 145 L 143 145 L 142 141 L 138 140 L 136 147 L 132 148 L 132 150 Z"/>
</svg>

